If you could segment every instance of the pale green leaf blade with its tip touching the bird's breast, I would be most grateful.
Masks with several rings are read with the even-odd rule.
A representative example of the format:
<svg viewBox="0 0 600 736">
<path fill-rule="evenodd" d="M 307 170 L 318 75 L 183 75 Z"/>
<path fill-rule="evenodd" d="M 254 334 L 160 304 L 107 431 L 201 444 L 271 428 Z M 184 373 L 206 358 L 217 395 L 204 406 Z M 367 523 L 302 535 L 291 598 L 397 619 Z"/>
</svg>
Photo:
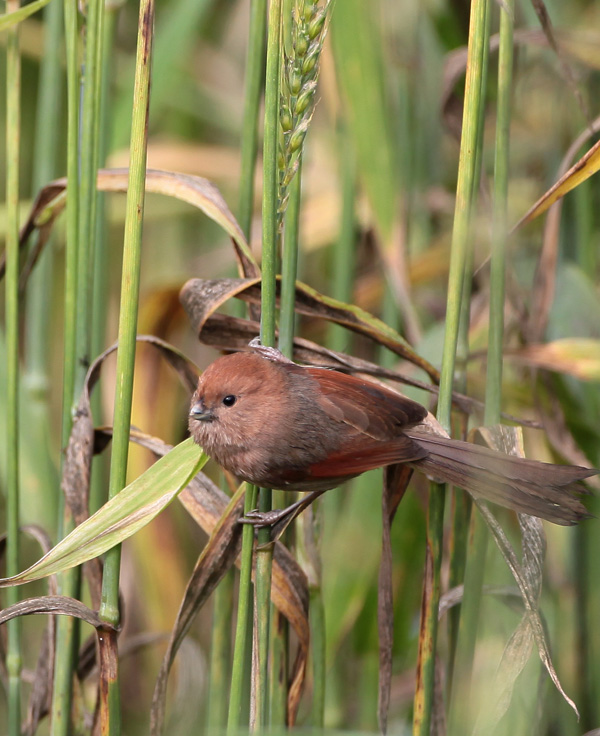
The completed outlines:
<svg viewBox="0 0 600 736">
<path fill-rule="evenodd" d="M 202 469 L 208 457 L 190 437 L 174 447 L 34 565 L 0 586 L 21 585 L 81 565 L 135 534 Z"/>
</svg>

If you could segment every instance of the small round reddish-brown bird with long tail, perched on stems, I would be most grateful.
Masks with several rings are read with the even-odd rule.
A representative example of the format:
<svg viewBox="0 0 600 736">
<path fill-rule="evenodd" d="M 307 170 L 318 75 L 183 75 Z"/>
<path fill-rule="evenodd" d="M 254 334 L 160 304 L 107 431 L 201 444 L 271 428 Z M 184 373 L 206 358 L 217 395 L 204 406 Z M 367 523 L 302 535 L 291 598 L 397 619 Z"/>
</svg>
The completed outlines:
<svg viewBox="0 0 600 736">
<path fill-rule="evenodd" d="M 272 348 L 218 358 L 200 377 L 189 428 L 223 468 L 265 488 L 334 488 L 396 463 L 526 514 L 571 525 L 588 516 L 592 468 L 505 455 L 435 434 L 427 410 L 371 381 L 302 367 Z M 294 505 L 296 513 L 308 499 Z M 271 524 L 281 515 L 258 519 Z"/>
</svg>

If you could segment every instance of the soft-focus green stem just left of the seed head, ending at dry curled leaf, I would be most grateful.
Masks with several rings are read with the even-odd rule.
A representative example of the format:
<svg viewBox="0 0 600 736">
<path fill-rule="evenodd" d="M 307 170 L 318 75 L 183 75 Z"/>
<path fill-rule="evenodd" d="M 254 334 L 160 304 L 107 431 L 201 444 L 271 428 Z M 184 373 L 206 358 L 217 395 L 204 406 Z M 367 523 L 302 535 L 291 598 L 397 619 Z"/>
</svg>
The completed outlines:
<svg viewBox="0 0 600 736">
<path fill-rule="evenodd" d="M 250 240 L 254 204 L 254 168 L 258 151 L 258 111 L 264 82 L 266 16 L 266 0 L 252 0 L 250 4 L 248 52 L 246 54 L 246 91 L 244 96 L 244 123 L 242 125 L 242 168 L 238 214 L 238 222 L 248 241 Z"/>
</svg>

